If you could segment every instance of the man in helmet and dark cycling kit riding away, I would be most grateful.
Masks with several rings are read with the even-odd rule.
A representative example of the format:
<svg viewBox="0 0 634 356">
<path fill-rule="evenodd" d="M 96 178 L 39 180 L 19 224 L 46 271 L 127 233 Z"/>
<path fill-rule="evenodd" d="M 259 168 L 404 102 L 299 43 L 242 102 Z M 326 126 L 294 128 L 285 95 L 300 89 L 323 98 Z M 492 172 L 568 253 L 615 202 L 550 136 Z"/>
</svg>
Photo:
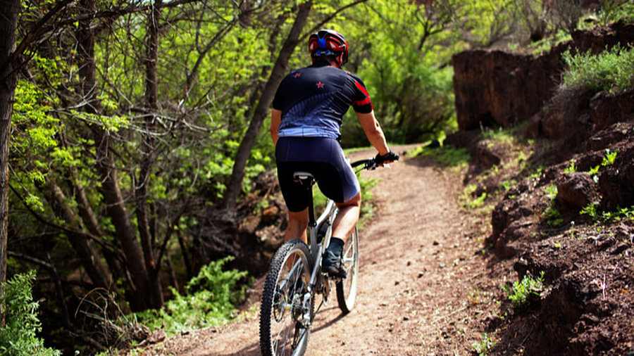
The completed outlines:
<svg viewBox="0 0 634 356">
<path fill-rule="evenodd" d="M 285 241 L 306 242 L 309 201 L 306 189 L 293 182 L 293 173 L 310 172 L 322 193 L 335 201 L 339 210 L 322 268 L 331 276 L 344 278 L 342 250 L 359 220 L 361 208 L 359 182 L 340 144 L 343 116 L 350 106 L 378 151 L 377 158 L 391 163 L 397 155 L 387 147 L 363 82 L 341 69 L 348 58 L 348 44 L 342 34 L 332 30 L 311 34 L 309 51 L 313 64 L 290 72 L 282 80 L 271 113 L 278 180 L 288 208 L 284 237 Z"/>
</svg>

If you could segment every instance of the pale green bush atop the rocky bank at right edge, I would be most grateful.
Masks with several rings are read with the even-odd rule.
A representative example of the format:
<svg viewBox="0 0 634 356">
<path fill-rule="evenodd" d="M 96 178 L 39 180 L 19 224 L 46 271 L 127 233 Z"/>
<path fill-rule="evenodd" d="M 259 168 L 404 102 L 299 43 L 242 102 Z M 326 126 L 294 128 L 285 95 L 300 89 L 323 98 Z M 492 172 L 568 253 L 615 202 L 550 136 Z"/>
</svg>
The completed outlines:
<svg viewBox="0 0 634 356">
<path fill-rule="evenodd" d="M 565 52 L 564 72 L 558 95 L 609 91 L 620 94 L 634 87 L 634 49 L 616 45 L 598 55 Z"/>
</svg>

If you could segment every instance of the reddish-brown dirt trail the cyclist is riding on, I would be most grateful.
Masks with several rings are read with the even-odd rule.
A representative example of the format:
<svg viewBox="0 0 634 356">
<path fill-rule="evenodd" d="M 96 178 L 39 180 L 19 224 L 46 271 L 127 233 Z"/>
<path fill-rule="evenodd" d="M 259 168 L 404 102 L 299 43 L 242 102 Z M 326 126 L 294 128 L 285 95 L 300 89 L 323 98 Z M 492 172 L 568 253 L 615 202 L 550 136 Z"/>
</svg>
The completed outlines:
<svg viewBox="0 0 634 356">
<path fill-rule="evenodd" d="M 359 238 L 355 309 L 343 316 L 336 299 L 321 307 L 306 355 L 468 354 L 483 338 L 479 320 L 495 312 L 493 298 L 483 298 L 493 283 L 478 254 L 488 216 L 461 212 L 461 174 L 429 158 L 362 174 L 379 180 L 378 209 Z M 143 355 L 259 355 L 259 313 L 168 338 Z"/>
</svg>

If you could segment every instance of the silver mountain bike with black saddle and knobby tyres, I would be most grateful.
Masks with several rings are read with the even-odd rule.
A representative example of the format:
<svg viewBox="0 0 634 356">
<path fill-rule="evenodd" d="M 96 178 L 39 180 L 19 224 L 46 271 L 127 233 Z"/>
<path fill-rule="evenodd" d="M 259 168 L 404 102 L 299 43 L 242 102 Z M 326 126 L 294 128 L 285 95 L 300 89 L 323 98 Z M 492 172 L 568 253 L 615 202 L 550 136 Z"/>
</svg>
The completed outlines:
<svg viewBox="0 0 634 356">
<path fill-rule="evenodd" d="M 396 155 L 398 160 L 398 155 Z M 374 170 L 376 158 L 357 160 L 352 167 Z M 337 215 L 335 202 L 328 200 L 325 210 L 315 220 L 312 188 L 316 183 L 309 172 L 295 172 L 294 179 L 304 185 L 309 196 L 309 245 L 297 239 L 286 241 L 278 248 L 266 274 L 260 312 L 260 348 L 262 355 L 304 355 L 315 314 L 330 303 L 332 282 L 335 283 L 337 304 L 342 313 L 350 312 L 356 301 L 359 278 L 359 229 L 354 227 L 346 241 L 343 262 L 345 278 L 332 278 L 321 271 L 321 260 L 330 238 L 332 222 Z M 322 302 L 315 310 L 316 295 Z"/>
</svg>

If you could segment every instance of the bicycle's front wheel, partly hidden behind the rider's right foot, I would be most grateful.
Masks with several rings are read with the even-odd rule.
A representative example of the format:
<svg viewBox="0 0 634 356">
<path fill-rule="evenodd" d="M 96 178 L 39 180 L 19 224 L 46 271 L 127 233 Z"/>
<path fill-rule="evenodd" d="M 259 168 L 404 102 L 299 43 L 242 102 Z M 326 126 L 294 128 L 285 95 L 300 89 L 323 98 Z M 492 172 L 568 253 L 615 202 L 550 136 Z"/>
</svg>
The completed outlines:
<svg viewBox="0 0 634 356">
<path fill-rule="evenodd" d="M 359 229 L 347 239 L 343 249 L 343 263 L 346 278 L 337 282 L 337 303 L 344 314 L 352 311 L 356 300 L 356 286 L 359 278 Z"/>
</svg>

